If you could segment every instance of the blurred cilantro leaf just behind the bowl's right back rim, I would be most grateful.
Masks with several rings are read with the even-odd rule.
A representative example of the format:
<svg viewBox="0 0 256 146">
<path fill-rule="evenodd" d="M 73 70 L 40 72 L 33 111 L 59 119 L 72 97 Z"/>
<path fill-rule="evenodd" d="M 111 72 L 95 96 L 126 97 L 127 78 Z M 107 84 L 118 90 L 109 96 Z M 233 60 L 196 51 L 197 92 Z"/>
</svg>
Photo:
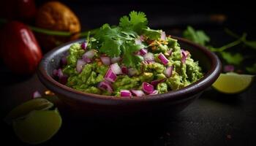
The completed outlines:
<svg viewBox="0 0 256 146">
<path fill-rule="evenodd" d="M 206 42 L 210 42 L 210 37 L 204 31 L 195 31 L 191 26 L 188 26 L 187 30 L 184 31 L 183 37 L 203 46 L 206 45 Z"/>
</svg>

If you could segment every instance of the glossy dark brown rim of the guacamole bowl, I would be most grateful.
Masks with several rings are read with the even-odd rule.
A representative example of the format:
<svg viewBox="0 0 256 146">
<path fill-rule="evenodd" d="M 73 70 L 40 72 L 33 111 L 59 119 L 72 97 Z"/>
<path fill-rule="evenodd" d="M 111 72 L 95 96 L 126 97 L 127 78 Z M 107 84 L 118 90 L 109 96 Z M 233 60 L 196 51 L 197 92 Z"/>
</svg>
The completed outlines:
<svg viewBox="0 0 256 146">
<path fill-rule="evenodd" d="M 54 48 L 50 52 L 46 53 L 42 60 L 39 63 L 37 68 L 37 75 L 39 80 L 51 91 L 65 95 L 66 98 L 74 99 L 76 101 L 85 101 L 90 102 L 93 104 L 132 104 L 132 103 L 140 103 L 140 102 L 151 102 L 151 101 L 168 101 L 168 100 L 181 100 L 187 99 L 189 96 L 192 96 L 196 93 L 200 93 L 201 91 L 205 90 L 211 84 L 217 80 L 219 74 L 221 72 L 221 62 L 219 58 L 214 53 L 211 53 L 206 47 L 197 45 L 193 42 L 190 42 L 187 39 L 183 39 L 180 37 L 173 37 L 173 39 L 178 39 L 178 42 L 183 42 L 187 45 L 197 48 L 205 55 L 208 56 L 209 60 L 211 61 L 211 68 L 204 74 L 204 76 L 197 80 L 197 82 L 188 85 L 185 88 L 181 88 L 177 91 L 169 91 L 167 93 L 161 93 L 157 95 L 147 95 L 142 97 L 134 97 L 134 98 L 127 98 L 127 97 L 116 97 L 116 96 L 104 96 L 99 94 L 93 93 L 84 93 L 82 91 L 76 91 L 73 88 L 69 88 L 66 85 L 57 82 L 56 80 L 51 77 L 46 70 L 47 63 L 50 62 L 50 58 L 53 58 L 54 54 L 59 53 L 61 49 L 66 45 L 70 45 L 75 42 L 83 42 L 84 39 L 78 39 L 72 42 L 67 42 L 64 45 Z"/>
</svg>

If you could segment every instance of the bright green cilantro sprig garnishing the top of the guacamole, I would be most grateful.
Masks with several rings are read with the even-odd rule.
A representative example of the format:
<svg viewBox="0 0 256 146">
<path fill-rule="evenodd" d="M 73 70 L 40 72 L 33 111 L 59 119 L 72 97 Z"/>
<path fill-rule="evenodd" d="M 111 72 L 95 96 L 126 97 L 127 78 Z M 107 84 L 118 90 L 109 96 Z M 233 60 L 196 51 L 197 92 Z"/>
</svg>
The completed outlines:
<svg viewBox="0 0 256 146">
<path fill-rule="evenodd" d="M 126 66 L 138 68 L 143 58 L 135 52 L 143 48 L 143 44 L 136 44 L 135 40 L 141 34 L 149 39 L 159 39 L 161 32 L 148 26 L 148 19 L 143 12 L 132 11 L 129 16 L 120 19 L 118 26 L 104 24 L 93 38 L 89 39 L 89 48 L 97 49 L 111 58 L 120 56 Z"/>
</svg>

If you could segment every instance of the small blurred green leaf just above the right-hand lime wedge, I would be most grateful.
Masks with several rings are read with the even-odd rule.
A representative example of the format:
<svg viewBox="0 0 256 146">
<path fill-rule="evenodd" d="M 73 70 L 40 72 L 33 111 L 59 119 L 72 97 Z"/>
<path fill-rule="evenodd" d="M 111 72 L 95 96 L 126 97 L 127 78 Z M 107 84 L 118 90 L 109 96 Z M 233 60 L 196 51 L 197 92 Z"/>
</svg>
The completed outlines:
<svg viewBox="0 0 256 146">
<path fill-rule="evenodd" d="M 243 56 L 240 53 L 236 53 L 236 54 L 231 54 L 231 53 L 227 53 L 227 52 L 220 52 L 220 54 L 222 55 L 222 58 L 225 59 L 225 61 L 227 61 L 227 64 L 234 64 L 234 65 L 239 65 L 241 64 L 241 61 L 244 60 Z"/>
</svg>

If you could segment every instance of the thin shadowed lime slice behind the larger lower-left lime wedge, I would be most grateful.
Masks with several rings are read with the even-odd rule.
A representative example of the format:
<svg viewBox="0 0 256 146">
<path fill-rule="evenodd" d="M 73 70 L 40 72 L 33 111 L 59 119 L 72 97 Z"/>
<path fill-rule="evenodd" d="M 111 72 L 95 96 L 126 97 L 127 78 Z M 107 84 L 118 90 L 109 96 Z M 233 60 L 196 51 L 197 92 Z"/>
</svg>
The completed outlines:
<svg viewBox="0 0 256 146">
<path fill-rule="evenodd" d="M 53 107 L 53 103 L 47 99 L 32 99 L 30 101 L 26 101 L 23 104 L 20 104 L 18 107 L 15 107 L 15 109 L 9 112 L 4 120 L 7 123 L 12 123 L 12 120 L 23 118 L 33 110 L 48 110 L 51 107 Z"/>
</svg>

